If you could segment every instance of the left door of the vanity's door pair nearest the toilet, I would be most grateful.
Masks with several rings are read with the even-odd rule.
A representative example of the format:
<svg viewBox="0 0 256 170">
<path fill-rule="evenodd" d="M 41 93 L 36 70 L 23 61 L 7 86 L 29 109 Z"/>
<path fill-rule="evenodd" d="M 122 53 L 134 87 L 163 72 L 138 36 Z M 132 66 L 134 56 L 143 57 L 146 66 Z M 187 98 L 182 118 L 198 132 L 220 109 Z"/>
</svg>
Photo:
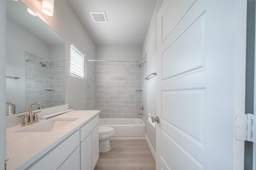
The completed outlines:
<svg viewBox="0 0 256 170">
<path fill-rule="evenodd" d="M 93 170 L 92 168 L 92 132 L 80 143 L 81 170 Z"/>
</svg>

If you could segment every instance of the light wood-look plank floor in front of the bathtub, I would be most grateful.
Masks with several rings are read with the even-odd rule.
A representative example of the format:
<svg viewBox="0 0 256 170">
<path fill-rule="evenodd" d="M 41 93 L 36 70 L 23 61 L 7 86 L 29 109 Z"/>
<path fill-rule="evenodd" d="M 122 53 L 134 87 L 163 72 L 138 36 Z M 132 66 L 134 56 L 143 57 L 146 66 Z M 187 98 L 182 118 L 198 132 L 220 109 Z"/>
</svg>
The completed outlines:
<svg viewBox="0 0 256 170">
<path fill-rule="evenodd" d="M 100 152 L 94 170 L 155 170 L 145 139 L 110 139 L 111 150 Z"/>
</svg>

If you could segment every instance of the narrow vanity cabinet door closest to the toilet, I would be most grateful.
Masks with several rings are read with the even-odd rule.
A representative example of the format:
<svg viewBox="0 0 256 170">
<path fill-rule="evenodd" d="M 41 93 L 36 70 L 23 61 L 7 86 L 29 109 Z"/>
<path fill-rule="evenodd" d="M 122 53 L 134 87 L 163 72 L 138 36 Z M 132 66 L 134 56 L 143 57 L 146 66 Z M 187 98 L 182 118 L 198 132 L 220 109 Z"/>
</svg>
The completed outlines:
<svg viewBox="0 0 256 170">
<path fill-rule="evenodd" d="M 99 125 L 92 130 L 92 169 L 95 168 L 99 159 Z"/>
</svg>

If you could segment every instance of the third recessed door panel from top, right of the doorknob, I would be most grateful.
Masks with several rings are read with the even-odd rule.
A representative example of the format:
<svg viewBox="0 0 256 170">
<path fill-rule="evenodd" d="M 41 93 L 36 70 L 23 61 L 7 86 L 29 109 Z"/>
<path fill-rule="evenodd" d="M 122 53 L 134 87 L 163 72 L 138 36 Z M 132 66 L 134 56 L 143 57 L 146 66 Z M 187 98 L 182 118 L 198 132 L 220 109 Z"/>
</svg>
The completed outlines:
<svg viewBox="0 0 256 170">
<path fill-rule="evenodd" d="M 204 102 L 205 89 L 164 91 L 162 92 L 162 119 L 190 135 L 190 138 L 204 143 Z"/>
</svg>

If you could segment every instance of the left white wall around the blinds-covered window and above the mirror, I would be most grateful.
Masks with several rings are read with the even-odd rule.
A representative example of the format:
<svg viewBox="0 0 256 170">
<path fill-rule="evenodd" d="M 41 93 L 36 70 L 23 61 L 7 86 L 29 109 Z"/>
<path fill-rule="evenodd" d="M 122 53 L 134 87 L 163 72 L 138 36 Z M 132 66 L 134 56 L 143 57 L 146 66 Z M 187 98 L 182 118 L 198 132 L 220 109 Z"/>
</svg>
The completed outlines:
<svg viewBox="0 0 256 170">
<path fill-rule="evenodd" d="M 54 1 L 54 14 L 52 17 L 41 12 L 42 1 L 21 0 L 28 8 L 36 13 L 50 27 L 65 39 L 65 92 L 66 104 L 72 109 L 86 109 L 86 78 L 70 75 L 70 43 L 83 53 L 88 53 L 90 59 L 95 59 L 96 46 L 84 26 L 70 7 L 68 1 Z"/>
</svg>

